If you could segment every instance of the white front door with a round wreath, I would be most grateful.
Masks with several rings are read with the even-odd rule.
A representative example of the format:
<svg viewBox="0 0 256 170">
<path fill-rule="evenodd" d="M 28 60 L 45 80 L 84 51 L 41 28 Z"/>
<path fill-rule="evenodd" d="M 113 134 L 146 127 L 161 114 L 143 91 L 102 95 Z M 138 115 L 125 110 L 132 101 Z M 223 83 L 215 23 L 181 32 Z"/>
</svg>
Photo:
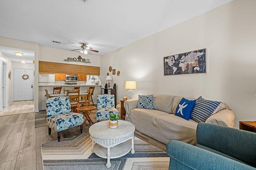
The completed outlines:
<svg viewBox="0 0 256 170">
<path fill-rule="evenodd" d="M 33 100 L 34 70 L 14 68 L 14 101 Z"/>
</svg>

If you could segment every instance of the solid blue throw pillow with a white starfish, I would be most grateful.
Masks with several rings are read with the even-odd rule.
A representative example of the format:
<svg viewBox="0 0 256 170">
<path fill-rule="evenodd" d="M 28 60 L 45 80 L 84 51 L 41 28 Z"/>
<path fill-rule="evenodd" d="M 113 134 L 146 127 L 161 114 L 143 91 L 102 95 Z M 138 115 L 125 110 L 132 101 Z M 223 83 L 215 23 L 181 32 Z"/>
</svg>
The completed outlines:
<svg viewBox="0 0 256 170">
<path fill-rule="evenodd" d="M 180 116 L 183 119 L 189 120 L 195 103 L 196 100 L 187 100 L 185 98 L 182 98 L 176 108 L 175 115 Z"/>
</svg>

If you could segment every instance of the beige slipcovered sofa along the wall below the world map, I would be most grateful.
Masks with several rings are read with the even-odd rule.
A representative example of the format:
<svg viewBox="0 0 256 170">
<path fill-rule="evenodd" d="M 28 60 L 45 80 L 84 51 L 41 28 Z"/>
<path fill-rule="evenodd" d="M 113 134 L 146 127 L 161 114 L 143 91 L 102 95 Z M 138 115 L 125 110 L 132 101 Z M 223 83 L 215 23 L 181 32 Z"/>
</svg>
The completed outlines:
<svg viewBox="0 0 256 170">
<path fill-rule="evenodd" d="M 177 140 L 196 145 L 198 123 L 192 119 L 187 121 L 174 115 L 181 99 L 180 96 L 154 95 L 154 110 L 136 108 L 138 99 L 126 100 L 124 102 L 125 120 L 133 123 L 137 131 L 164 144 Z M 186 99 L 195 100 L 195 98 Z M 221 103 L 206 122 L 233 127 L 234 119 L 233 111 L 225 103 Z"/>
</svg>

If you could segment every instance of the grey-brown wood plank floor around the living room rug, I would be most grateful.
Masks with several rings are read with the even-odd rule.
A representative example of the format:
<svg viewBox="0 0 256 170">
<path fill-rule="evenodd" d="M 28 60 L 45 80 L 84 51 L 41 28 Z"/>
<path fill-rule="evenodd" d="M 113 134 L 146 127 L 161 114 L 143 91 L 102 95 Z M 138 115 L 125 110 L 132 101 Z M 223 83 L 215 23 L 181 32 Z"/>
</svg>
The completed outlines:
<svg viewBox="0 0 256 170">
<path fill-rule="evenodd" d="M 52 130 L 48 135 L 48 127 L 35 128 L 35 115 L 39 113 L 23 113 L 0 116 L 0 170 L 42 170 L 41 144 L 57 140 L 57 132 Z M 87 122 L 88 123 L 88 122 Z M 89 131 L 86 124 L 83 133 Z M 61 131 L 61 139 L 80 134 L 80 127 Z M 166 152 L 166 145 L 138 131 L 135 136 Z"/>
</svg>

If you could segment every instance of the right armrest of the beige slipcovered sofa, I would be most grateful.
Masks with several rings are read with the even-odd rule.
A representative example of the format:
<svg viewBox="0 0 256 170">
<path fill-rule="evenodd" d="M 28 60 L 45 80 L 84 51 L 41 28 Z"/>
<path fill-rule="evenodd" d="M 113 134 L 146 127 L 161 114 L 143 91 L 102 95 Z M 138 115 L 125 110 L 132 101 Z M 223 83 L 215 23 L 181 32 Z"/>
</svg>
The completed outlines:
<svg viewBox="0 0 256 170">
<path fill-rule="evenodd" d="M 222 125 L 227 127 L 233 127 L 235 121 L 234 112 L 230 109 L 223 109 L 218 111 L 215 114 L 212 114 L 208 119 L 206 119 L 206 123 L 211 123 L 215 125 Z"/>
</svg>

